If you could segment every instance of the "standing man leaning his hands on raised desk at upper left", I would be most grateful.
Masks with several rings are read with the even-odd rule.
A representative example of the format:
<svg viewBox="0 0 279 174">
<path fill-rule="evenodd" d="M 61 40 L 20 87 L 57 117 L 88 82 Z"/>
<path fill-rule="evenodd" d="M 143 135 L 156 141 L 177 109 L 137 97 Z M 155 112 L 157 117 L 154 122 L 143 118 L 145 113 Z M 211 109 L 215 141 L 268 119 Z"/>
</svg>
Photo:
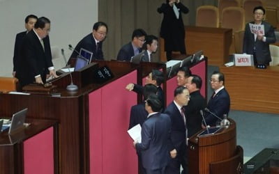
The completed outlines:
<svg viewBox="0 0 279 174">
<path fill-rule="evenodd" d="M 50 19 L 40 17 L 33 30 L 22 40 L 22 57 L 19 72 L 16 73 L 22 86 L 33 82 L 44 84 L 47 76 L 58 77 L 52 64 L 49 33 Z"/>
</svg>

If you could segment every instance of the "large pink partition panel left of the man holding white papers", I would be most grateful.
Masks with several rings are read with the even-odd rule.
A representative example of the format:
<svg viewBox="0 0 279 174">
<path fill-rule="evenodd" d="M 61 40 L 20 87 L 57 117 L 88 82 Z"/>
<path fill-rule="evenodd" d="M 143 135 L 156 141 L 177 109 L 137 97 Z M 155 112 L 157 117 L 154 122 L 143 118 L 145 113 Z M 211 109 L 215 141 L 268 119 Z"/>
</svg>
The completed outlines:
<svg viewBox="0 0 279 174">
<path fill-rule="evenodd" d="M 137 155 L 127 133 L 137 95 L 125 89 L 129 83 L 137 83 L 137 71 L 89 94 L 91 174 L 137 173 Z"/>
</svg>

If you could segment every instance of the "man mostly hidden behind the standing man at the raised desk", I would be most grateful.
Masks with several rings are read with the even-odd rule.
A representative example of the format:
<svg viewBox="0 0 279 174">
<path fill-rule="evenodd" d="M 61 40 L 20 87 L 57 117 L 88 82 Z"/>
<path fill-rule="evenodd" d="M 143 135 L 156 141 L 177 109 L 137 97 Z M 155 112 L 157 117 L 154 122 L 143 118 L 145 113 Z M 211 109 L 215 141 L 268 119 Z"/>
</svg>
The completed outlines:
<svg viewBox="0 0 279 174">
<path fill-rule="evenodd" d="M 20 66 L 20 47 L 22 45 L 22 40 L 24 36 L 27 35 L 27 33 L 31 31 L 31 29 L 33 29 L 35 23 L 37 22 L 37 19 L 38 17 L 36 17 L 36 15 L 28 15 L 27 17 L 25 17 L 25 29 L 27 30 L 17 33 L 17 35 L 15 36 L 15 49 L 13 52 L 13 77 L 15 77 L 15 73 Z"/>
</svg>

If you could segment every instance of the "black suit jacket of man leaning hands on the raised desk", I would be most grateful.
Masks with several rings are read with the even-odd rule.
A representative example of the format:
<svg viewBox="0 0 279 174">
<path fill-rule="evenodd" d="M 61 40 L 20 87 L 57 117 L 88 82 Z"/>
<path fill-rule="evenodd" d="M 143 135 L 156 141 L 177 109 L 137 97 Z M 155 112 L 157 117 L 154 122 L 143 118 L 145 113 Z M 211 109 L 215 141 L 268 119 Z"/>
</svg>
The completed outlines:
<svg viewBox="0 0 279 174">
<path fill-rule="evenodd" d="M 35 76 L 38 74 L 40 74 L 40 77 L 45 82 L 45 75 L 49 72 L 47 68 L 53 66 L 48 35 L 43 39 L 43 42 L 45 51 L 33 30 L 29 31 L 22 40 L 22 57 L 19 73 L 16 73 L 16 77 L 22 86 L 32 84 L 35 81 Z"/>
</svg>

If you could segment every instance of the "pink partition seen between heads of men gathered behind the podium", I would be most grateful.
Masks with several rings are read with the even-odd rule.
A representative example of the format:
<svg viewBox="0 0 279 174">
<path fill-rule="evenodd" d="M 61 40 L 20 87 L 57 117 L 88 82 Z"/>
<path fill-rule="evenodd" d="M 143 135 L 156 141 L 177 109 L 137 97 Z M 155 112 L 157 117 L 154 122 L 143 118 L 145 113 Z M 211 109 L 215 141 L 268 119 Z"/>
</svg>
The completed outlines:
<svg viewBox="0 0 279 174">
<path fill-rule="evenodd" d="M 202 78 L 202 89 L 200 90 L 202 96 L 206 98 L 206 61 L 200 61 L 190 68 L 192 74 L 196 74 Z M 176 77 L 167 80 L 167 105 L 174 100 L 174 89 L 177 87 Z"/>
</svg>

